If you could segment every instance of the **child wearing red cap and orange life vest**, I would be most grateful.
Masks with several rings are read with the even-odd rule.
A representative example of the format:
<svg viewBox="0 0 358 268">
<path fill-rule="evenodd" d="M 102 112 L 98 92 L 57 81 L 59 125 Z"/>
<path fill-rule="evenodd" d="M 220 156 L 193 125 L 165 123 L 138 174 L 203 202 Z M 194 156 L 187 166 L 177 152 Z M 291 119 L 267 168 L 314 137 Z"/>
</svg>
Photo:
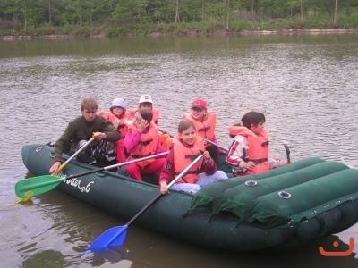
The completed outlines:
<svg viewBox="0 0 358 268">
<path fill-rule="evenodd" d="M 208 138 L 212 142 L 217 144 L 217 138 L 215 137 L 215 128 L 217 125 L 217 115 L 208 111 L 208 105 L 205 100 L 197 98 L 192 102 L 192 110 L 190 113 L 185 113 L 184 118 L 191 120 L 197 134 L 203 138 Z M 215 146 L 209 144 L 206 145 L 207 150 L 210 153 L 214 161 L 217 161 L 218 149 Z"/>
</svg>

